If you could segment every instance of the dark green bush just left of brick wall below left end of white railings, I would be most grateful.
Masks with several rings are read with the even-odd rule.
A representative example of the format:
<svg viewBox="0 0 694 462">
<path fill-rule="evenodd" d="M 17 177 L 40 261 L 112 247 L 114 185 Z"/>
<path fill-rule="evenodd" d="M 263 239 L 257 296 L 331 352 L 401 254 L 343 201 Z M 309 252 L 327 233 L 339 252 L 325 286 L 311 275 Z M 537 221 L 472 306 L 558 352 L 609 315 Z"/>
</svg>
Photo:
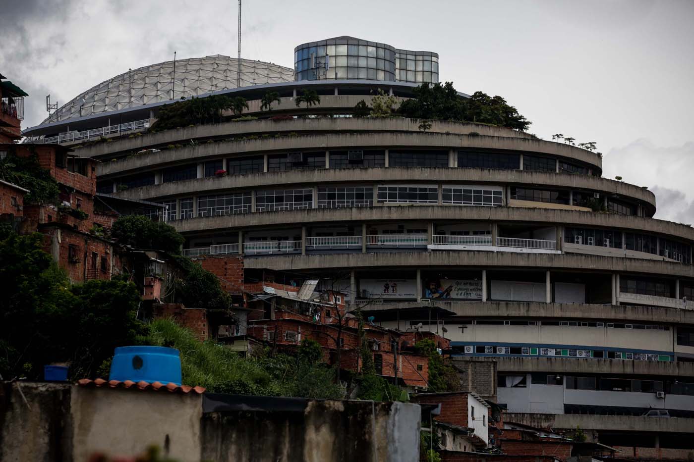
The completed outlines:
<svg viewBox="0 0 694 462">
<path fill-rule="evenodd" d="M 175 276 L 174 298 L 189 308 L 227 309 L 231 305 L 229 294 L 219 284 L 219 279 L 200 264 L 180 255 L 172 259 L 182 271 Z"/>
</svg>

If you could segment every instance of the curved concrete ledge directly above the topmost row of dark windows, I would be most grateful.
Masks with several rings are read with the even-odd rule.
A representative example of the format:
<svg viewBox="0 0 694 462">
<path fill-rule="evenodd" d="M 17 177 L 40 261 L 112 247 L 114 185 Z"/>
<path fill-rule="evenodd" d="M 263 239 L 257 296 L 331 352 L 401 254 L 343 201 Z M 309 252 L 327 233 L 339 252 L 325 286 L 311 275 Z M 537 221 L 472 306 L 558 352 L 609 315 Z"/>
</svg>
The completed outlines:
<svg viewBox="0 0 694 462">
<path fill-rule="evenodd" d="M 367 119 L 371 120 L 371 119 Z M 291 122 L 291 121 L 290 121 Z M 243 122 L 237 122 L 243 123 Z M 98 144 L 103 152 L 94 149 L 76 151 L 78 155 L 101 157 L 112 153 L 110 144 Z M 540 153 L 577 160 L 600 168 L 602 160 L 596 153 L 585 149 L 546 142 L 540 139 L 509 138 L 499 136 L 471 136 L 430 132 L 337 132 L 320 135 L 304 135 L 297 137 L 259 138 L 246 141 L 229 141 L 203 143 L 183 148 L 165 149 L 158 153 L 134 155 L 113 162 L 99 165 L 97 176 L 108 176 L 116 173 L 142 171 L 152 166 L 171 166 L 185 162 L 201 162 L 214 157 L 241 156 L 252 153 L 282 153 L 291 150 L 329 150 L 334 148 L 484 148 L 517 151 L 520 153 Z"/>
</svg>

